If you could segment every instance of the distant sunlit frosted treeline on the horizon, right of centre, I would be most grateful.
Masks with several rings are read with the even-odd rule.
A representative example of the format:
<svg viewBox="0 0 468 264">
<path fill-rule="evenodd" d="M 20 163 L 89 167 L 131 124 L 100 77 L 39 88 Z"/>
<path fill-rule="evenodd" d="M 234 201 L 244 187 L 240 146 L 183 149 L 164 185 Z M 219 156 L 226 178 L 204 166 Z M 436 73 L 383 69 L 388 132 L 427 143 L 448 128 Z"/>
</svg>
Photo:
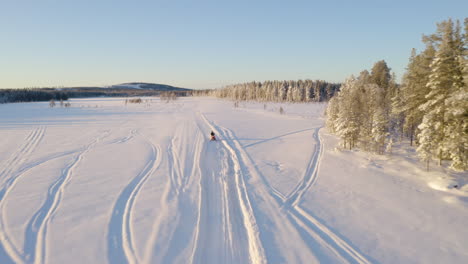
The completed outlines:
<svg viewBox="0 0 468 264">
<path fill-rule="evenodd" d="M 340 89 L 340 84 L 325 81 L 249 82 L 213 90 L 212 95 L 236 101 L 323 102 Z"/>
</svg>

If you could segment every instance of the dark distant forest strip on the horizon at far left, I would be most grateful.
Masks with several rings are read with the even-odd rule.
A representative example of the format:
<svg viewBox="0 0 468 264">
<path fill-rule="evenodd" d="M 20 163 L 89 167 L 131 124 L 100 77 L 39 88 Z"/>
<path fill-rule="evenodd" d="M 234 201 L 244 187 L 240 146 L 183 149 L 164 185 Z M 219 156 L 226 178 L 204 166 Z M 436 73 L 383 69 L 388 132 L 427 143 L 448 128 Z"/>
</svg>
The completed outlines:
<svg viewBox="0 0 468 264">
<path fill-rule="evenodd" d="M 67 93 L 52 89 L 0 89 L 0 104 L 68 100 Z"/>
</svg>

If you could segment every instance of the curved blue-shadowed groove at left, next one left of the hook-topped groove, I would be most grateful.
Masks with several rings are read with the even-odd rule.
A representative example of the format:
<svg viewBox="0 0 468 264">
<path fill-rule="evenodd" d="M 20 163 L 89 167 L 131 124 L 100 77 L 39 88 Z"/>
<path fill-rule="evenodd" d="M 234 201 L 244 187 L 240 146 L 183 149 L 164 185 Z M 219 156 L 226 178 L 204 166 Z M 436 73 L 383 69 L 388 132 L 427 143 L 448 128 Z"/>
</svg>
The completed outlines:
<svg viewBox="0 0 468 264">
<path fill-rule="evenodd" d="M 96 138 L 84 151 L 75 157 L 64 170 L 62 175 L 49 186 L 47 197 L 41 208 L 33 215 L 28 222 L 25 234 L 24 255 L 28 263 L 45 263 L 47 247 L 47 229 L 49 223 L 56 212 L 65 190 L 66 185 L 71 180 L 75 168 L 78 166 L 83 156 L 88 153 L 99 141 L 106 137 L 107 133 Z"/>
</svg>

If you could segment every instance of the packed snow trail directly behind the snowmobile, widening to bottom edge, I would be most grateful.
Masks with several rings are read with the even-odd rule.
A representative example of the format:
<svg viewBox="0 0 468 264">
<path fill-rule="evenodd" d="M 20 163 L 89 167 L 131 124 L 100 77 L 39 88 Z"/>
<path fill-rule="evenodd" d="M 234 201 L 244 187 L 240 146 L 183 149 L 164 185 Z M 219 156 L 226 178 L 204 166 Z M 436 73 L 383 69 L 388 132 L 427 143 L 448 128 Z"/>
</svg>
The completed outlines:
<svg viewBox="0 0 468 264">
<path fill-rule="evenodd" d="M 234 162 L 219 141 L 208 141 L 210 127 L 197 114 L 200 131 L 206 133 L 200 169 L 200 209 L 194 263 L 262 263 L 263 256 L 251 252 L 245 201 L 233 177 Z M 249 229 L 250 228 L 250 229 Z"/>
</svg>

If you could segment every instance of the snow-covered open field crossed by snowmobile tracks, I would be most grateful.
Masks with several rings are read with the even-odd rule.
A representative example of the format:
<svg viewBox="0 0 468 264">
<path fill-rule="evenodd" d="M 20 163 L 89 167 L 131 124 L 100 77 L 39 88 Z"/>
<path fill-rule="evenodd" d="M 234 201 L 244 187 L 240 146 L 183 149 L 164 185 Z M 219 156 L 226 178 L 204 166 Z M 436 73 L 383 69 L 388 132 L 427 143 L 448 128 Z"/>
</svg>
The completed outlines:
<svg viewBox="0 0 468 264">
<path fill-rule="evenodd" d="M 324 104 L 145 100 L 0 105 L 0 263 L 468 263 L 466 174 L 339 150 Z"/>
</svg>

